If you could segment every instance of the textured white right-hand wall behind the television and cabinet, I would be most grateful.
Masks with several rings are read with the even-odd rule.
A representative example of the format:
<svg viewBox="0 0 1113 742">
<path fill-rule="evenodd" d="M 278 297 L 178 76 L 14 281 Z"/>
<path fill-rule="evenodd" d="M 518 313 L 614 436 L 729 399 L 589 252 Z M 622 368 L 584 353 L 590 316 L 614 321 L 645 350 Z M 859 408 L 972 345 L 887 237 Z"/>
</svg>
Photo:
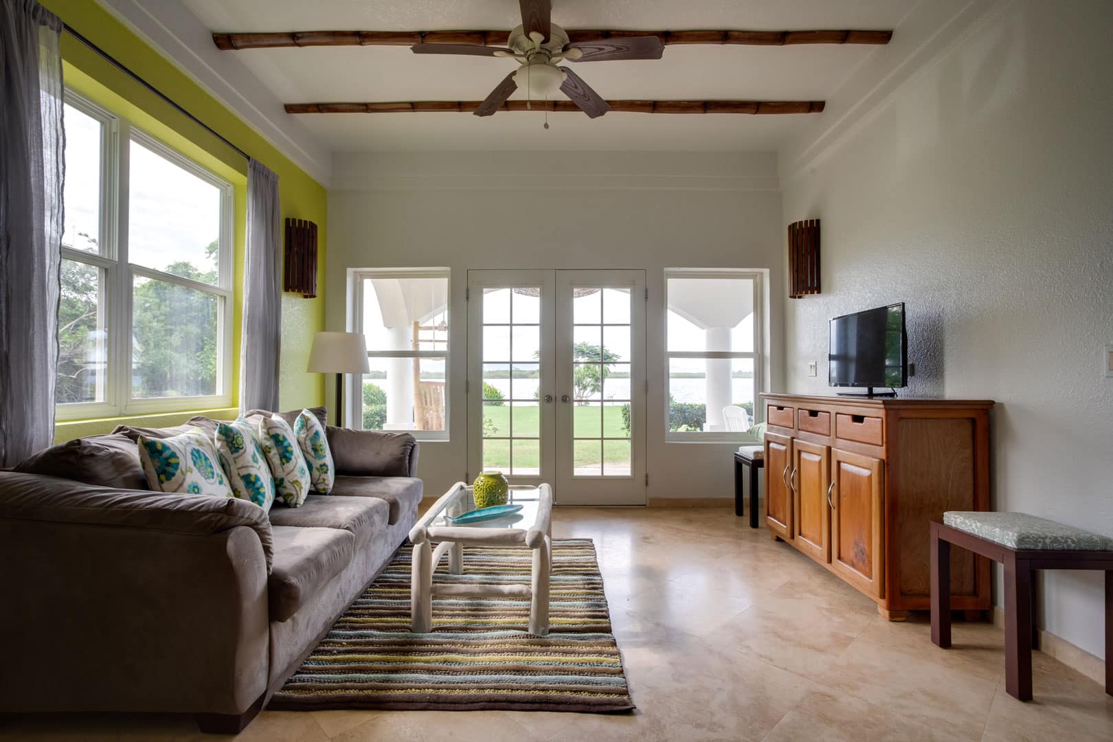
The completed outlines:
<svg viewBox="0 0 1113 742">
<path fill-rule="evenodd" d="M 787 388 L 828 392 L 829 317 L 903 300 L 905 394 L 997 402 L 996 508 L 1113 535 L 1110 28 L 1103 0 L 998 3 L 781 182 L 785 222 L 823 220 L 823 294 L 787 300 Z M 1041 603 L 1048 631 L 1110 651 L 1100 573 L 1047 573 Z"/>
</svg>

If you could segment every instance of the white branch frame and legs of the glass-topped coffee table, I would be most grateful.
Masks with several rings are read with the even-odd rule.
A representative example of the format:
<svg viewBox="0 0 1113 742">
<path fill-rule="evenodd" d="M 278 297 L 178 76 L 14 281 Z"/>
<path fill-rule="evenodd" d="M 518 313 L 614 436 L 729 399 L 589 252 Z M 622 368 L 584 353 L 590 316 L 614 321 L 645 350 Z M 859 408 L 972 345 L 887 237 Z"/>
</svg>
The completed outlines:
<svg viewBox="0 0 1113 742">
<path fill-rule="evenodd" d="M 552 487 L 542 484 L 512 486 L 510 505 L 522 509 L 505 517 L 456 525 L 447 516 L 475 509 L 472 488 L 457 482 L 444 493 L 410 531 L 414 553 L 410 574 L 411 629 L 427 633 L 433 629 L 433 597 L 522 597 L 530 598 L 530 633 L 549 633 L 549 572 L 552 561 Z M 439 542 L 433 548 L 431 541 Z M 533 550 L 530 585 L 434 585 L 433 572 L 449 555 L 449 572 L 460 574 L 464 546 L 524 546 Z"/>
</svg>

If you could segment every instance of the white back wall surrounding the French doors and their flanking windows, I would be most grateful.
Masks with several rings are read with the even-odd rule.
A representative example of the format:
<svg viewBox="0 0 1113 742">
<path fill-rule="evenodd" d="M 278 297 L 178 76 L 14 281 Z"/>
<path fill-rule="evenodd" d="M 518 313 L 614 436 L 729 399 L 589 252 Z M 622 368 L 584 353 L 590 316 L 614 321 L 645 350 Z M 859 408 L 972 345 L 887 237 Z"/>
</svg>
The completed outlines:
<svg viewBox="0 0 1113 742">
<path fill-rule="evenodd" d="M 735 446 L 666 444 L 663 412 L 652 413 L 664 406 L 662 274 L 669 267 L 771 269 L 769 335 L 776 342 L 767 378 L 781 385 L 784 227 L 774 155 L 348 155 L 337 157 L 333 172 L 329 329 L 345 324 L 348 268 L 452 269 L 451 441 L 422 445 L 426 494 L 440 494 L 466 469 L 466 271 L 643 268 L 649 496 L 733 496 Z"/>
</svg>

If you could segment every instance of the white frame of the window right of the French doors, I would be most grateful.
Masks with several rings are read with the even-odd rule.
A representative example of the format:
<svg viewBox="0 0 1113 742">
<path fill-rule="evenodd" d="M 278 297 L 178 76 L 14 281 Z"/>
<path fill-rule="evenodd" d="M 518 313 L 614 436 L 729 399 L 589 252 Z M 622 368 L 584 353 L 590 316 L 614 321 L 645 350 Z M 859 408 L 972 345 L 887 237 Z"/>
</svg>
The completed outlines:
<svg viewBox="0 0 1113 742">
<path fill-rule="evenodd" d="M 754 350 L 669 350 L 669 279 L 670 278 L 742 278 L 754 281 Z M 745 432 L 670 431 L 669 429 L 669 362 L 672 358 L 749 358 L 754 362 L 754 415 L 751 424 L 765 421 L 760 395 L 765 390 L 765 283 L 764 273 L 746 268 L 666 268 L 664 269 L 664 441 L 667 443 L 733 443 L 758 444 Z"/>
</svg>

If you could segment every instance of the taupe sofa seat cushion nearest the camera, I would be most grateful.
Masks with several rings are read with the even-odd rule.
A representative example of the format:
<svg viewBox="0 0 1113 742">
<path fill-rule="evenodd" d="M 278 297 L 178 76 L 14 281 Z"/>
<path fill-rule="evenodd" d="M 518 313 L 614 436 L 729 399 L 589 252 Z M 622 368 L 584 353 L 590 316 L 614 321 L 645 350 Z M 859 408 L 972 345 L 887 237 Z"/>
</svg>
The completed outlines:
<svg viewBox="0 0 1113 742">
<path fill-rule="evenodd" d="M 344 571 L 355 554 L 355 537 L 342 528 L 273 525 L 270 531 L 275 556 L 267 593 L 270 620 L 282 622 Z"/>
</svg>

